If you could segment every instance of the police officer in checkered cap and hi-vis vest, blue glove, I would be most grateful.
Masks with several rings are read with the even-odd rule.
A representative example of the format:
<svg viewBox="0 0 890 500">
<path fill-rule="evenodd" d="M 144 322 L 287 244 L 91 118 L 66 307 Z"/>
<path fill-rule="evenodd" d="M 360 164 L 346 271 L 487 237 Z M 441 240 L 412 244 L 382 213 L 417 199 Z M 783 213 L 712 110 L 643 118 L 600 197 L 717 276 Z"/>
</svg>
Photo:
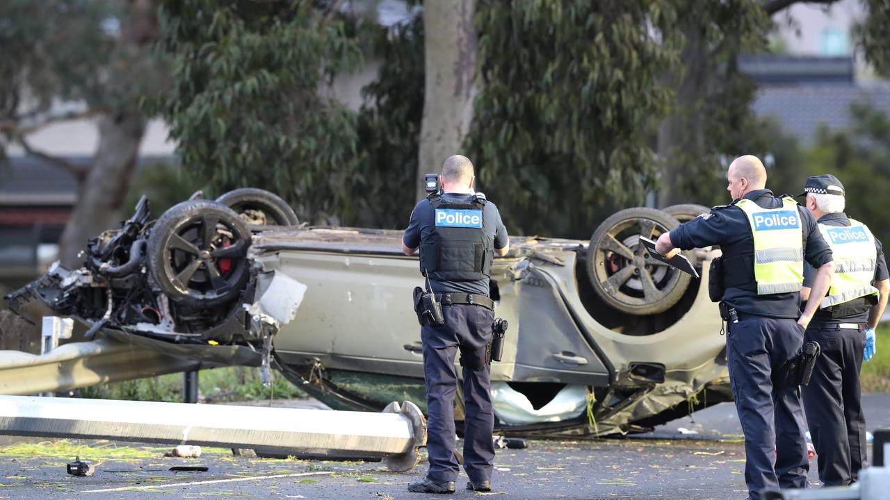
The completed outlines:
<svg viewBox="0 0 890 500">
<path fill-rule="evenodd" d="M 806 422 L 819 479 L 825 486 L 848 485 L 866 462 L 859 370 L 863 355 L 868 360 L 874 354 L 874 329 L 886 307 L 890 277 L 878 239 L 868 226 L 844 214 L 844 185 L 834 175 L 810 177 L 800 196 L 806 197 L 806 209 L 819 223 L 837 264 L 828 295 L 804 337 L 821 346 L 813 377 L 803 388 Z M 814 273 L 805 267 L 800 296 L 807 305 Z"/>
</svg>

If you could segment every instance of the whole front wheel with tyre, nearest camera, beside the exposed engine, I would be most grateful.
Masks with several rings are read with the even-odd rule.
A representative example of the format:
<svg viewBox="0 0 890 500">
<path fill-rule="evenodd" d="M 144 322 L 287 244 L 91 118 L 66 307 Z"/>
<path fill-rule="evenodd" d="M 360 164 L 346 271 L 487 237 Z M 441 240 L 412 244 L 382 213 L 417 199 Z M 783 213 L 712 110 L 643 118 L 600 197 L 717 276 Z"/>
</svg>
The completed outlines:
<svg viewBox="0 0 890 500">
<path fill-rule="evenodd" d="M 247 225 L 228 206 L 206 199 L 183 201 L 151 228 L 150 278 L 183 305 L 200 308 L 229 302 L 249 278 L 250 240 Z"/>
</svg>

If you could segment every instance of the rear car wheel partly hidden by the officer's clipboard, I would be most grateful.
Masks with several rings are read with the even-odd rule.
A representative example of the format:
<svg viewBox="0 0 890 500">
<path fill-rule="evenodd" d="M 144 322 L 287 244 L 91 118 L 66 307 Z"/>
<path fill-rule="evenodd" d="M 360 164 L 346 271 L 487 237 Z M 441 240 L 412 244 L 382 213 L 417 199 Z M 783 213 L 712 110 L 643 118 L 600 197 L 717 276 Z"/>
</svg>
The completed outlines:
<svg viewBox="0 0 890 500">
<path fill-rule="evenodd" d="M 660 210 L 643 207 L 603 221 L 587 247 L 587 276 L 600 299 L 638 316 L 659 314 L 679 302 L 692 277 L 652 259 L 639 242 L 641 235 L 657 239 L 679 224 Z"/>
</svg>

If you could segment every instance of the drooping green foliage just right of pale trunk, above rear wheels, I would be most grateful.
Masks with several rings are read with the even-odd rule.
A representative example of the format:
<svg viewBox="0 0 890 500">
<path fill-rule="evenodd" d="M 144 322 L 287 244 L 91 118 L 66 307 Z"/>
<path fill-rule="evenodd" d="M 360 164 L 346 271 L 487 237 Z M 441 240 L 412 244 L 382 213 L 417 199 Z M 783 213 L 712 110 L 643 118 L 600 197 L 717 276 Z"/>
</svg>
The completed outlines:
<svg viewBox="0 0 890 500">
<path fill-rule="evenodd" d="M 466 146 L 513 234 L 587 238 L 596 214 L 643 203 L 675 21 L 649 0 L 480 4 Z"/>
</svg>

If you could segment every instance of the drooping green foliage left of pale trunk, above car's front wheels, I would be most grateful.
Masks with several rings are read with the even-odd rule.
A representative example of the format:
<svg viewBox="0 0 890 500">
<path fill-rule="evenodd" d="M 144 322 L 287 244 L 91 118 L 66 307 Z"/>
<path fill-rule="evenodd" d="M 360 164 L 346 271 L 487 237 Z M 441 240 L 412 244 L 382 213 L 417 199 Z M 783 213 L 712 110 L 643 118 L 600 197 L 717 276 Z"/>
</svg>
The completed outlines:
<svg viewBox="0 0 890 500">
<path fill-rule="evenodd" d="M 340 2 L 169 0 L 161 8 L 173 85 L 159 108 L 190 174 L 220 193 L 279 193 L 301 220 L 352 217 L 356 116 L 320 93 L 360 52 Z"/>
</svg>

